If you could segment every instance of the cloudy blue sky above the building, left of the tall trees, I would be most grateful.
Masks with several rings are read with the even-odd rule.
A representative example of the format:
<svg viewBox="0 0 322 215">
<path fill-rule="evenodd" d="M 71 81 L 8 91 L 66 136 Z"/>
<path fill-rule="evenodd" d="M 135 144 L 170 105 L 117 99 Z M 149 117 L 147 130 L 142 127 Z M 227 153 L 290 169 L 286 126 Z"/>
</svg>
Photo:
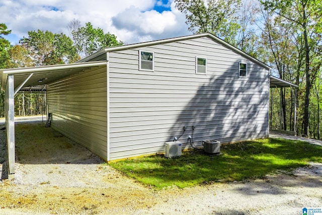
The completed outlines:
<svg viewBox="0 0 322 215">
<path fill-rule="evenodd" d="M 38 29 L 68 35 L 73 19 L 91 22 L 127 44 L 191 34 L 174 0 L 0 0 L 0 14 L 0 22 L 12 30 L 5 36 L 12 44 Z"/>
</svg>

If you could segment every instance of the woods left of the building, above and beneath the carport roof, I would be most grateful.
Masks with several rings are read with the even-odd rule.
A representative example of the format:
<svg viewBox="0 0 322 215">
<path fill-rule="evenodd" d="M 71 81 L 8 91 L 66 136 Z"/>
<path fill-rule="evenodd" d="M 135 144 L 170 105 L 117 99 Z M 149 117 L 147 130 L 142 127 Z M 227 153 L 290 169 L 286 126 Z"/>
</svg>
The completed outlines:
<svg viewBox="0 0 322 215">
<path fill-rule="evenodd" d="M 91 23 L 81 26 L 72 20 L 67 29 L 70 36 L 50 31 L 29 31 L 19 44 L 10 45 L 2 35 L 11 33 L 0 23 L 0 68 L 18 68 L 73 63 L 95 51 L 109 46 L 122 45 L 116 36 L 94 28 Z M 28 116 L 45 113 L 45 93 L 18 93 L 15 96 L 15 115 Z M 5 94 L 0 93 L 0 117 L 5 116 Z"/>
</svg>

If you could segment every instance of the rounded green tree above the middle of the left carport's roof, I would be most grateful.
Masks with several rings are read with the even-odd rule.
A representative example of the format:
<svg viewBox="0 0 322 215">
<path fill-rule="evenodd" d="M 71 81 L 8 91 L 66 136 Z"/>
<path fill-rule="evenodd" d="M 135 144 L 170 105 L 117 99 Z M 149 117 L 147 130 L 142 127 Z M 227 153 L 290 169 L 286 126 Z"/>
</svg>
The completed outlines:
<svg viewBox="0 0 322 215">
<path fill-rule="evenodd" d="M 29 31 L 21 44 L 29 51 L 36 65 L 54 65 L 74 62 L 77 59 L 72 41 L 63 33 Z"/>
</svg>

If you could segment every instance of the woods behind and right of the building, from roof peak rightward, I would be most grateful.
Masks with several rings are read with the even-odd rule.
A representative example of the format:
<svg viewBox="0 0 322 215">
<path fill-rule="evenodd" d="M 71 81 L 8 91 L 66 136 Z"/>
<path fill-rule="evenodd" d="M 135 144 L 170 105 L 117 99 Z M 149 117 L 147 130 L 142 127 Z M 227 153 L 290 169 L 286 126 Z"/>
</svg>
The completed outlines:
<svg viewBox="0 0 322 215">
<path fill-rule="evenodd" d="M 272 67 L 298 89 L 272 89 L 270 127 L 320 138 L 322 1 L 175 0 L 189 30 L 208 31 Z"/>
</svg>

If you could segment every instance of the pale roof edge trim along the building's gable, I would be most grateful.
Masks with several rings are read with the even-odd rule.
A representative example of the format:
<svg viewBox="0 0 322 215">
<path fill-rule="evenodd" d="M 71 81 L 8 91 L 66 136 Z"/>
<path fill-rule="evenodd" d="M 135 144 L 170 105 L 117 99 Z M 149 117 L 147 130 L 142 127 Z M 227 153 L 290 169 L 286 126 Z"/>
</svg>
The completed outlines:
<svg viewBox="0 0 322 215">
<path fill-rule="evenodd" d="M 105 54 L 106 52 L 111 52 L 111 51 L 120 51 L 120 50 L 126 50 L 126 49 L 132 49 L 132 48 L 139 48 L 139 47 L 144 47 L 144 46 L 151 46 L 151 45 L 157 45 L 157 44 L 164 44 L 164 43 L 170 43 L 170 42 L 177 42 L 177 41 L 183 41 L 183 40 L 189 40 L 189 39 L 196 39 L 196 38 L 201 38 L 201 37 L 208 37 L 210 39 L 215 40 L 216 42 L 226 46 L 227 48 L 237 52 L 238 54 L 262 65 L 263 67 L 267 69 L 271 69 L 270 66 L 267 64 L 263 63 L 262 61 L 256 59 L 255 57 L 245 53 L 244 51 L 241 51 L 240 49 L 234 47 L 233 45 L 230 45 L 229 43 L 223 41 L 219 37 L 216 37 L 215 35 L 211 33 L 201 33 L 201 34 L 194 34 L 194 35 L 189 35 L 189 36 L 182 36 L 182 37 L 174 37 L 174 38 L 169 38 L 169 39 L 162 39 L 162 40 L 154 40 L 154 41 L 149 41 L 149 42 L 142 42 L 142 43 L 134 43 L 134 44 L 129 44 L 129 45 L 121 45 L 121 46 L 113 46 L 113 47 L 108 47 L 101 49 L 100 51 L 95 52 L 94 54 L 83 58 L 79 60 L 78 62 L 87 62 L 90 61 L 91 59 L 100 56 L 102 54 Z"/>
</svg>

